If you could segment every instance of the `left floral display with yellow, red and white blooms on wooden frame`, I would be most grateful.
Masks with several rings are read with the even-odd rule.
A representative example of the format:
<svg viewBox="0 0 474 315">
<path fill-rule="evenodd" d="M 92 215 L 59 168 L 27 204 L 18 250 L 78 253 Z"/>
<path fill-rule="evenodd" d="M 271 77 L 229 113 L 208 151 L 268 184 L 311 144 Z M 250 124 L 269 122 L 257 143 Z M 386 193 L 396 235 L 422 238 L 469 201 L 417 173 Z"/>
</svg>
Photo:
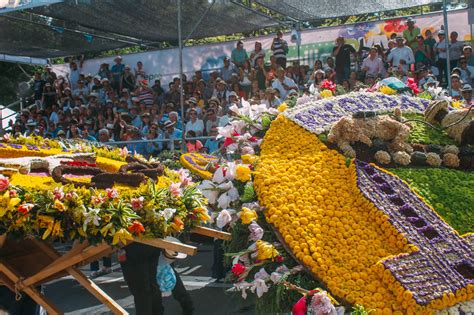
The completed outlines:
<svg viewBox="0 0 474 315">
<path fill-rule="evenodd" d="M 3 161 L 11 156 L 21 157 L 19 152 L 25 154 L 25 159 L 30 156 L 30 149 L 25 149 L 29 144 L 15 146 L 14 154 L 0 148 Z M 33 154 L 48 156 L 56 154 L 55 150 L 58 149 L 35 149 Z M 64 159 L 69 161 L 69 156 L 74 154 L 66 153 Z M 67 163 L 78 170 L 98 167 L 115 172 L 126 164 L 106 157 L 97 158 L 96 164 Z M 0 234 L 119 245 L 134 237 L 166 237 L 211 220 L 207 200 L 185 170 L 167 170 L 164 176 L 148 179 L 137 188 L 119 184 L 107 189 L 81 188 L 63 185 L 49 175 L 34 171 L 14 173 L 11 178 L 0 176 Z M 80 175 L 71 179 L 73 183 L 91 180 L 90 176 Z"/>
</svg>

